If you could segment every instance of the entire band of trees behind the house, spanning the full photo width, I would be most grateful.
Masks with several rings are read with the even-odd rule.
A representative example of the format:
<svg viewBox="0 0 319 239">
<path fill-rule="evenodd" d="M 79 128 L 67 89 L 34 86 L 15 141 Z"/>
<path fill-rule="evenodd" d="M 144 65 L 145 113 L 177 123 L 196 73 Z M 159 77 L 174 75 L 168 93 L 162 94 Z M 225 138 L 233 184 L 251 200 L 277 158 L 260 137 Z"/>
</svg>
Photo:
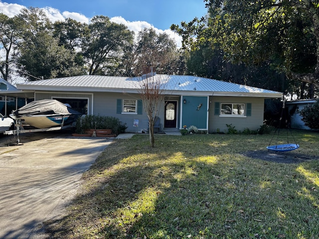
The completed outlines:
<svg viewBox="0 0 319 239">
<path fill-rule="evenodd" d="M 40 8 L 0 13 L 0 76 L 30 81 L 75 75 L 196 75 L 284 92 L 318 96 L 319 4 L 316 1 L 204 0 L 207 14 L 171 25 L 182 49 L 152 28 L 137 36 L 107 16 L 89 24 L 52 23 Z"/>
</svg>

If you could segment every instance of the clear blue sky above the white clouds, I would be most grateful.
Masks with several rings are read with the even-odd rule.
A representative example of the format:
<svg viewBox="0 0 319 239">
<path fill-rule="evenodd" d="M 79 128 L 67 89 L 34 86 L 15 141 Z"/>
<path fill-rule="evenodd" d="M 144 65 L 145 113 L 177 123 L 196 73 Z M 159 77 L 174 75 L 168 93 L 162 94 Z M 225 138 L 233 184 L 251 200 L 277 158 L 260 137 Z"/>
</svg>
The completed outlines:
<svg viewBox="0 0 319 239">
<path fill-rule="evenodd" d="M 203 0 L 0 0 L 23 6 L 52 7 L 62 12 L 77 12 L 91 18 L 94 15 L 122 16 L 125 20 L 146 21 L 165 30 L 171 24 L 190 21 L 205 15 Z"/>
</svg>

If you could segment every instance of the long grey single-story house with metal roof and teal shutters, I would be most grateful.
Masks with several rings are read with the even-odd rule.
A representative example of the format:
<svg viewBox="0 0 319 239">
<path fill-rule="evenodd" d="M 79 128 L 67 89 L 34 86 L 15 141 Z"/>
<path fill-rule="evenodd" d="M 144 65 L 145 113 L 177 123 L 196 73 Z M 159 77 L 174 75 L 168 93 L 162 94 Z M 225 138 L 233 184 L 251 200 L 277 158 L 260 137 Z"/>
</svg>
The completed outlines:
<svg viewBox="0 0 319 239">
<path fill-rule="evenodd" d="M 208 132 L 258 129 L 264 120 L 264 100 L 282 93 L 197 76 L 154 74 L 162 92 L 161 131 L 194 125 Z M 74 76 L 18 84 L 34 100 L 56 99 L 89 115 L 111 116 L 126 123 L 127 132 L 149 128 L 139 89 L 145 77 Z"/>
</svg>

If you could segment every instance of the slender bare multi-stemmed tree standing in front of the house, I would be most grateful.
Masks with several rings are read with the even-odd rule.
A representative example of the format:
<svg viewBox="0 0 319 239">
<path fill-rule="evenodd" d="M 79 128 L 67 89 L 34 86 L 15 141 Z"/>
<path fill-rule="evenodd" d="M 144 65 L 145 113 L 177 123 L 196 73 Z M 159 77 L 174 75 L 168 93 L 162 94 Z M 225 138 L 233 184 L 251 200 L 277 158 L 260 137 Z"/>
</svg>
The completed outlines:
<svg viewBox="0 0 319 239">
<path fill-rule="evenodd" d="M 149 118 L 149 133 L 151 147 L 155 147 L 154 124 L 159 116 L 161 103 L 165 96 L 165 88 L 168 79 L 164 75 L 156 75 L 152 64 L 140 69 L 141 77 L 138 77 L 137 89 L 143 102 L 143 107 Z M 144 74 L 141 74 L 144 73 Z"/>
</svg>

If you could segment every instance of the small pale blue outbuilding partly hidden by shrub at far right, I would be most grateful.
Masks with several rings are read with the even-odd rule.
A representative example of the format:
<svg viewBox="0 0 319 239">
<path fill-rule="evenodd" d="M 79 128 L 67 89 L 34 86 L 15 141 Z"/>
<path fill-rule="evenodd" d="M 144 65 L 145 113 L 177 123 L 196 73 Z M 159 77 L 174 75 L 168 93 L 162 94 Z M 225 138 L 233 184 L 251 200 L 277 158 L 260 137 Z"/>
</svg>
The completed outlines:
<svg viewBox="0 0 319 239">
<path fill-rule="evenodd" d="M 286 105 L 288 107 L 288 112 L 291 115 L 291 127 L 299 129 L 311 129 L 305 125 L 305 122 L 302 120 L 300 111 L 303 110 L 306 106 L 311 106 L 316 102 L 316 99 L 308 100 L 297 100 L 297 101 L 287 101 Z"/>
</svg>

